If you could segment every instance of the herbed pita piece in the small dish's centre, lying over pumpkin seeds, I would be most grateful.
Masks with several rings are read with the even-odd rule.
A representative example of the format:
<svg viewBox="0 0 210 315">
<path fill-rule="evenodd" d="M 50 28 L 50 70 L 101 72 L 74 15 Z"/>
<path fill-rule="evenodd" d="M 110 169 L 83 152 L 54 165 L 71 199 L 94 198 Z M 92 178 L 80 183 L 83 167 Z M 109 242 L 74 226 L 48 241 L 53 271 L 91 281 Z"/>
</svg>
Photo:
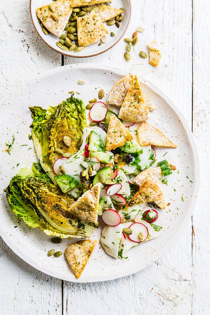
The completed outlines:
<svg viewBox="0 0 210 315">
<path fill-rule="evenodd" d="M 101 39 L 108 31 L 100 17 L 94 11 L 77 19 L 77 34 L 79 46 L 88 46 Z"/>
</svg>

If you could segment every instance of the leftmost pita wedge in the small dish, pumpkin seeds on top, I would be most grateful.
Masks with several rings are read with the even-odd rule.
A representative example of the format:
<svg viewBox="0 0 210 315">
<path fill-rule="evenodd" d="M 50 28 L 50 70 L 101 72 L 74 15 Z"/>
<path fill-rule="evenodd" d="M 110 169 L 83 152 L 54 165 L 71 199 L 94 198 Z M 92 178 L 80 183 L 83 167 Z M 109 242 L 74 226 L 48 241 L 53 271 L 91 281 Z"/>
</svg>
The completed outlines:
<svg viewBox="0 0 210 315">
<path fill-rule="evenodd" d="M 36 10 L 36 14 L 50 33 L 60 36 L 72 14 L 71 1 L 58 0 L 50 4 L 55 9 L 55 13 L 49 9 L 49 5 L 44 5 Z M 55 21 L 51 14 L 55 14 L 58 21 Z"/>
</svg>

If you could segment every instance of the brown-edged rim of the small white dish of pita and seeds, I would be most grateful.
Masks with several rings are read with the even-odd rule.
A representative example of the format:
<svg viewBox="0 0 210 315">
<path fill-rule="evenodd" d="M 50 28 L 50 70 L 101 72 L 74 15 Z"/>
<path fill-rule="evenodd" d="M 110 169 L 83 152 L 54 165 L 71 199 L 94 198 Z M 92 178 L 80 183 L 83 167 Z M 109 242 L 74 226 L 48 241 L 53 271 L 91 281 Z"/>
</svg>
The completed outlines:
<svg viewBox="0 0 210 315">
<path fill-rule="evenodd" d="M 37 32 L 38 36 L 41 38 L 41 40 L 48 46 L 50 47 L 52 50 L 56 51 L 57 53 L 61 54 L 61 55 L 64 55 L 64 56 L 67 56 L 67 57 L 73 57 L 73 58 L 90 58 L 90 57 L 94 57 L 94 56 L 97 56 L 97 55 L 100 55 L 100 54 L 103 54 L 105 52 L 107 52 L 109 49 L 113 48 L 119 41 L 120 39 L 123 37 L 123 35 L 125 34 L 125 32 L 127 31 L 127 28 L 130 24 L 130 21 L 131 21 L 131 13 L 132 13 L 132 6 L 131 6 L 131 0 L 127 0 L 128 3 L 129 3 L 129 6 L 130 6 L 130 13 L 129 13 L 129 18 L 128 18 L 128 23 L 125 27 L 125 31 L 122 33 L 122 35 L 120 36 L 120 38 L 112 45 L 110 46 L 109 48 L 97 53 L 97 54 L 91 54 L 91 55 L 87 55 L 87 56 L 75 56 L 75 54 L 67 54 L 65 52 L 62 52 L 62 51 L 59 51 L 58 49 L 55 49 L 53 48 L 52 46 L 50 46 L 50 44 L 48 44 L 44 38 L 41 36 L 41 34 L 39 33 L 37 27 L 35 26 L 35 23 L 34 23 L 34 20 L 33 20 L 33 17 L 32 17 L 32 9 L 31 9 L 31 3 L 32 3 L 33 0 L 30 0 L 30 3 L 29 3 L 29 11 L 30 11 L 30 17 L 31 17 L 31 21 L 32 21 L 32 24 L 33 24 L 33 27 L 35 29 L 35 31 Z"/>
</svg>

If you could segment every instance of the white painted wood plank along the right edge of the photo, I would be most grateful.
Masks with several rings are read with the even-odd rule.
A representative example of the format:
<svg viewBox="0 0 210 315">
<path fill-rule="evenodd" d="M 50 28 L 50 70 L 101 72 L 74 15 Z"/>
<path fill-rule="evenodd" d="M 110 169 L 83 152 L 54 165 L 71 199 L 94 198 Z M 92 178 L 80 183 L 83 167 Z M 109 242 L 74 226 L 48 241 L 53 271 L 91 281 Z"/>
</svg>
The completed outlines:
<svg viewBox="0 0 210 315">
<path fill-rule="evenodd" d="M 193 5 L 193 133 L 201 164 L 199 200 L 193 215 L 193 304 L 192 315 L 210 314 L 210 243 L 209 243 L 209 191 L 210 191 L 210 67 L 209 16 L 207 0 L 194 0 Z"/>
</svg>

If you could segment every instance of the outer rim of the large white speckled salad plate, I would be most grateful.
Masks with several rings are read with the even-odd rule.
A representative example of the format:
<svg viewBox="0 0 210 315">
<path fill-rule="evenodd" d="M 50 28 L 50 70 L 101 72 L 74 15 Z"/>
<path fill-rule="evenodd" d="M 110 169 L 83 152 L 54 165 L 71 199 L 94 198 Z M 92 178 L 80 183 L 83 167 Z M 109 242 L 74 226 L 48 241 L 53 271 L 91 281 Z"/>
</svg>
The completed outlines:
<svg viewBox="0 0 210 315">
<path fill-rule="evenodd" d="M 1 106 L 3 104 L 6 104 L 7 102 L 11 101 L 14 97 L 16 97 L 19 93 L 21 93 L 21 91 L 23 89 L 25 89 L 26 87 L 28 87 L 29 85 L 31 85 L 32 83 L 44 78 L 44 77 L 48 77 L 50 76 L 53 72 L 59 72 L 59 71 L 64 71 L 67 68 L 72 69 L 72 67 L 74 68 L 80 68 L 83 69 L 84 68 L 95 68 L 97 70 L 102 70 L 102 71 L 111 71 L 111 72 L 125 72 L 126 73 L 131 73 L 132 71 L 123 69 L 123 68 L 118 68 L 118 67 L 112 67 L 112 66 L 106 66 L 106 65 L 99 65 L 99 64 L 91 64 L 91 63 L 84 63 L 84 64 L 71 64 L 71 65 L 66 65 L 66 66 L 60 66 L 54 69 L 50 69 L 47 72 L 44 72 L 43 74 L 39 74 L 36 77 L 33 77 L 32 79 L 30 79 L 29 81 L 27 81 L 26 83 L 24 83 L 20 88 L 18 88 L 7 100 L 3 101 L 3 103 L 1 104 Z M 180 110 L 178 109 L 178 107 L 176 105 L 174 105 L 174 103 L 172 102 L 172 100 L 164 93 L 162 92 L 155 84 L 151 83 L 150 81 L 146 80 L 144 77 L 142 76 L 138 76 L 138 78 L 140 79 L 141 82 L 143 82 L 144 84 L 146 84 L 146 86 L 148 86 L 150 89 L 152 89 L 156 94 L 158 94 L 160 97 L 162 97 L 167 103 L 168 105 L 172 108 L 172 110 L 177 114 L 177 116 L 179 117 L 181 123 L 183 124 L 184 130 L 186 132 L 186 135 L 188 136 L 189 139 L 189 143 L 190 146 L 192 147 L 192 154 L 193 154 L 193 160 L 194 163 L 197 165 L 196 171 L 197 173 L 195 174 L 195 186 L 194 186 L 194 190 L 193 190 L 193 197 L 191 198 L 190 201 L 190 206 L 188 208 L 187 214 L 183 220 L 183 222 L 180 224 L 179 228 L 177 229 L 175 235 L 166 243 L 165 247 L 163 248 L 163 250 L 161 251 L 161 253 L 157 253 L 155 254 L 154 258 L 152 261 L 149 261 L 147 266 L 151 265 L 155 260 L 157 260 L 158 258 L 160 258 L 162 255 L 164 255 L 166 253 L 166 251 L 168 249 L 170 249 L 170 247 L 178 240 L 178 238 L 181 237 L 181 233 L 184 232 L 185 227 L 187 226 L 187 224 L 190 221 L 191 216 L 193 215 L 194 209 L 195 209 L 195 205 L 199 196 L 199 188 L 200 188 L 200 162 L 199 162 L 199 155 L 198 155 L 198 150 L 197 150 L 197 146 L 195 143 L 195 139 L 193 136 L 192 131 L 190 130 L 190 127 L 188 126 L 188 123 L 184 117 L 184 115 L 180 112 Z M 108 281 L 108 280 L 114 280 L 114 279 L 118 279 L 121 277 L 125 277 L 125 276 L 129 276 L 133 273 L 139 272 L 141 270 L 143 270 L 144 268 L 146 268 L 146 266 L 144 268 L 135 268 L 130 270 L 129 272 L 124 273 L 119 272 L 117 275 L 112 275 L 112 276 L 106 276 L 106 275 L 102 275 L 100 277 L 100 279 L 92 279 L 90 278 L 85 280 L 82 279 L 69 279 L 68 277 L 63 277 L 61 275 L 60 272 L 56 272 L 53 271 L 51 272 L 47 267 L 42 266 L 40 263 L 34 261 L 32 258 L 28 257 L 22 250 L 18 249 L 16 247 L 16 244 L 13 243 L 12 240 L 10 240 L 9 236 L 2 230 L 1 226 L 0 226 L 0 236 L 3 238 L 3 241 L 9 246 L 9 248 L 17 255 L 19 256 L 22 260 L 24 260 L 26 263 L 28 263 L 30 266 L 36 268 L 37 270 L 44 272 L 45 274 L 49 275 L 50 277 L 55 277 L 55 278 L 59 278 L 61 280 L 65 280 L 65 281 L 70 281 L 70 282 L 74 282 L 74 283 L 90 283 L 90 282 L 101 282 L 101 281 Z"/>
</svg>

